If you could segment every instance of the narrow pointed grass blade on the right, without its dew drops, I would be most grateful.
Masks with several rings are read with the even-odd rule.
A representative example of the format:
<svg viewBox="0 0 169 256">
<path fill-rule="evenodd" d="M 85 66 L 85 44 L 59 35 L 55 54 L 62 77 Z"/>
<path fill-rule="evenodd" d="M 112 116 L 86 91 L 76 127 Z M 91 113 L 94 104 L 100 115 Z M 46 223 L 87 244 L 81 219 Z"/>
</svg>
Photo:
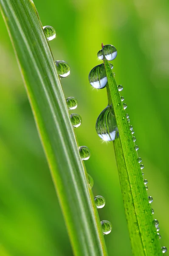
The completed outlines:
<svg viewBox="0 0 169 256">
<path fill-rule="evenodd" d="M 113 142 L 124 209 L 127 218 L 128 230 L 135 256 L 161 256 L 161 245 L 153 223 L 151 205 L 143 182 L 143 175 L 138 163 L 138 154 L 126 118 L 126 111 L 121 102 L 120 93 L 110 68 L 109 62 L 104 59 L 107 75 L 107 94 L 109 104 L 112 103 L 119 138 Z"/>
</svg>

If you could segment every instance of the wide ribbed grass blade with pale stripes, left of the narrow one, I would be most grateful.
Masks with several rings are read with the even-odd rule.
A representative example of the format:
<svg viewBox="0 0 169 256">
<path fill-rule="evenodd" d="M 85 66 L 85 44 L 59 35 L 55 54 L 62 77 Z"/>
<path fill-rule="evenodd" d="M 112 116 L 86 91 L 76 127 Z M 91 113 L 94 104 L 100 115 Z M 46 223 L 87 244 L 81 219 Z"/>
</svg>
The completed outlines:
<svg viewBox="0 0 169 256">
<path fill-rule="evenodd" d="M 32 0 L 0 0 L 0 7 L 25 81 L 74 254 L 107 255 L 54 58 L 34 3 Z"/>
</svg>

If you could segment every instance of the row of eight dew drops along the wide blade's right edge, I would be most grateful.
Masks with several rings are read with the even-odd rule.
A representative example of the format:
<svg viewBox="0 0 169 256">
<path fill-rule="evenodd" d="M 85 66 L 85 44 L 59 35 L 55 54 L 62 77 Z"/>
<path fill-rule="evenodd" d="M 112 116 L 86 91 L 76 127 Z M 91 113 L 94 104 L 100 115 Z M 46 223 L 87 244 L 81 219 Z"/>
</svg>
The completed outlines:
<svg viewBox="0 0 169 256">
<path fill-rule="evenodd" d="M 51 41 L 54 38 L 56 38 L 56 32 L 53 27 L 44 26 L 43 30 L 45 32 L 45 36 L 48 39 L 48 41 Z M 56 64 L 56 70 L 57 70 L 60 78 L 65 78 L 70 74 L 70 67 L 65 61 L 55 61 L 55 64 Z M 69 110 L 76 109 L 77 105 L 78 105 L 78 102 L 74 97 L 68 97 L 66 99 L 66 103 L 67 103 Z M 81 125 L 82 118 L 79 114 L 72 113 L 72 114 L 70 114 L 70 121 L 71 121 L 73 127 L 77 128 Z M 86 146 L 80 146 L 79 147 L 79 155 L 82 160 L 88 160 L 90 158 L 89 148 L 87 148 Z M 93 178 L 89 174 L 87 174 L 87 181 L 88 181 L 90 189 L 92 189 L 94 182 L 93 182 Z M 101 195 L 94 197 L 94 201 L 95 201 L 96 207 L 98 209 L 103 208 L 104 205 L 106 204 L 105 198 L 102 197 Z M 101 221 L 101 229 L 102 229 L 103 234 L 107 235 L 112 230 L 112 224 L 110 223 L 110 221 L 103 220 L 103 221 Z"/>
</svg>

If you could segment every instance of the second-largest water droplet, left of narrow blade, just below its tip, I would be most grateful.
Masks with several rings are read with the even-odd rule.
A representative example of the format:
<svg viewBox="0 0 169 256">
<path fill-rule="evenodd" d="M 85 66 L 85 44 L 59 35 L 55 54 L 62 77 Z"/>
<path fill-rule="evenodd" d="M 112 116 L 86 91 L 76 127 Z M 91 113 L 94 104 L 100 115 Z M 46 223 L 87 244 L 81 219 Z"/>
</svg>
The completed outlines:
<svg viewBox="0 0 169 256">
<path fill-rule="evenodd" d="M 89 82 L 96 89 L 102 89 L 107 84 L 106 70 L 104 64 L 97 65 L 89 73 Z"/>
</svg>

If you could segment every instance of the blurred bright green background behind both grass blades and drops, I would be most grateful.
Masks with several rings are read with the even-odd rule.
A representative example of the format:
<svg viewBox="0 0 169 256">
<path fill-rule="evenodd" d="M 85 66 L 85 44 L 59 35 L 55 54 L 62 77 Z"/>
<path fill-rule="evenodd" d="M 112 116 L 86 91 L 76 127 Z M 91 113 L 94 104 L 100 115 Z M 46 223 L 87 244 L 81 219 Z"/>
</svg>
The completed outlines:
<svg viewBox="0 0 169 256">
<path fill-rule="evenodd" d="M 88 82 L 100 64 L 101 43 L 113 44 L 113 61 L 121 95 L 127 103 L 143 159 L 148 195 L 160 222 L 161 246 L 169 247 L 169 2 L 167 0 L 34 0 L 43 26 L 56 29 L 50 42 L 54 58 L 70 64 L 62 79 L 65 96 L 79 101 L 76 129 L 94 195 L 103 195 L 101 220 L 112 222 L 105 236 L 110 256 L 131 256 L 113 143 L 95 131 L 107 106 L 106 89 Z M 8 33 L 0 17 L 0 256 L 71 256 L 62 212 L 39 141 L 31 108 Z M 166 255 L 168 255 L 166 253 Z"/>
</svg>

